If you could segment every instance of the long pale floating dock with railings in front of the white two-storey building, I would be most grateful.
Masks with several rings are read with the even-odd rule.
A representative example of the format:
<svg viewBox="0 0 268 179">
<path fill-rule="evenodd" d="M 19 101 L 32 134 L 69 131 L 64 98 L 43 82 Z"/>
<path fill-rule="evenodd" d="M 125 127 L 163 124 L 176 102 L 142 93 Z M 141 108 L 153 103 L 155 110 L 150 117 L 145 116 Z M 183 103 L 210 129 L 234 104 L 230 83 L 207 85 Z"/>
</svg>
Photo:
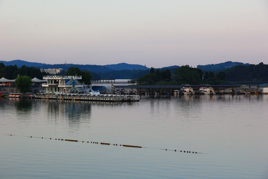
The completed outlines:
<svg viewBox="0 0 268 179">
<path fill-rule="evenodd" d="M 88 100 L 88 101 L 139 101 L 139 95 L 121 94 L 75 94 L 75 93 L 37 93 L 37 99 L 63 99 L 63 100 Z"/>
</svg>

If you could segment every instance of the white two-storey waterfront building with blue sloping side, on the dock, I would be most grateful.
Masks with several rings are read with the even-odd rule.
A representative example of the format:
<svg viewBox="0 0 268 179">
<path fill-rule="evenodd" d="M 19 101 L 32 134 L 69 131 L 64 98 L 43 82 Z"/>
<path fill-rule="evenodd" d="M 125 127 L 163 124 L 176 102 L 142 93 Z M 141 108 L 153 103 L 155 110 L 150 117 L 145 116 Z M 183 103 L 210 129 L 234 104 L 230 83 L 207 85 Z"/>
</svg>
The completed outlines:
<svg viewBox="0 0 268 179">
<path fill-rule="evenodd" d="M 86 86 L 81 84 L 78 80 L 81 80 L 81 76 L 43 76 L 44 80 L 47 80 L 46 84 L 42 84 L 45 87 L 46 93 L 88 93 Z"/>
</svg>

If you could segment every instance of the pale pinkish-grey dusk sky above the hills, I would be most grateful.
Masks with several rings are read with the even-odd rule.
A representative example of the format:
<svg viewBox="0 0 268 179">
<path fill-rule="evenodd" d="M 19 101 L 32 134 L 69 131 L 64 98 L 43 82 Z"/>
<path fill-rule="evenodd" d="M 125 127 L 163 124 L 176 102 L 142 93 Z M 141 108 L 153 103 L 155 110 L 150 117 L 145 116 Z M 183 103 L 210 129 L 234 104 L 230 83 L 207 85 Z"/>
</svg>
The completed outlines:
<svg viewBox="0 0 268 179">
<path fill-rule="evenodd" d="M 268 64 L 268 0 L 0 0 L 0 60 Z"/>
</svg>

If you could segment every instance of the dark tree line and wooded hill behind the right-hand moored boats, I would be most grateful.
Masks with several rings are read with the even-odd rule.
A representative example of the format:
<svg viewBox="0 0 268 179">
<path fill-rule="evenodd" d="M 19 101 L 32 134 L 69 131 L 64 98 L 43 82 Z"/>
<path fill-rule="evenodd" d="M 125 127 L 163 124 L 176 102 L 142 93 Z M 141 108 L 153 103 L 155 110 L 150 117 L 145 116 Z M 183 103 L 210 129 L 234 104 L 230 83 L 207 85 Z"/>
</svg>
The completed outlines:
<svg viewBox="0 0 268 179">
<path fill-rule="evenodd" d="M 189 65 L 177 68 L 171 74 L 168 71 L 154 72 L 154 69 L 151 68 L 150 73 L 139 77 L 136 82 L 149 85 L 220 85 L 228 82 L 268 82 L 268 65 L 264 63 L 238 65 L 217 73 L 203 72 L 200 68 L 193 68 Z"/>
</svg>

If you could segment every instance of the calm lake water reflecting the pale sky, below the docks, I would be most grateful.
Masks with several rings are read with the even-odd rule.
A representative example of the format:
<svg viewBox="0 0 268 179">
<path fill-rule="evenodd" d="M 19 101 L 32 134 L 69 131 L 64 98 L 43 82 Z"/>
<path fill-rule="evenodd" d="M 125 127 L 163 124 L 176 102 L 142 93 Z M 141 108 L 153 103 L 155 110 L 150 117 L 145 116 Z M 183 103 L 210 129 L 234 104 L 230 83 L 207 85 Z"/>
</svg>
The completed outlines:
<svg viewBox="0 0 268 179">
<path fill-rule="evenodd" d="M 1 98 L 0 179 L 37 178 L 268 179 L 268 95 Z"/>
</svg>

